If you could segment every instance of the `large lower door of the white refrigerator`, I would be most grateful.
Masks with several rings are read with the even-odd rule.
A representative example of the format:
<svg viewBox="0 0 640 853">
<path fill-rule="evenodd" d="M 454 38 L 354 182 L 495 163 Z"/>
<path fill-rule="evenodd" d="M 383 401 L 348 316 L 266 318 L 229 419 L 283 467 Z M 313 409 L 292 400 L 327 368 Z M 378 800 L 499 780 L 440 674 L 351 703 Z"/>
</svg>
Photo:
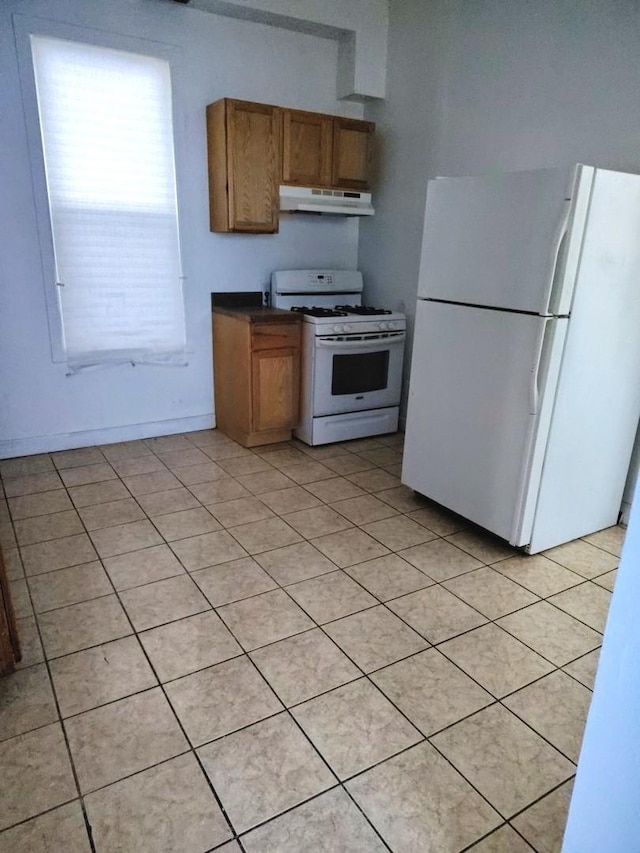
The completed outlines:
<svg viewBox="0 0 640 853">
<path fill-rule="evenodd" d="M 567 323 L 419 301 L 402 482 L 528 543 Z"/>
</svg>

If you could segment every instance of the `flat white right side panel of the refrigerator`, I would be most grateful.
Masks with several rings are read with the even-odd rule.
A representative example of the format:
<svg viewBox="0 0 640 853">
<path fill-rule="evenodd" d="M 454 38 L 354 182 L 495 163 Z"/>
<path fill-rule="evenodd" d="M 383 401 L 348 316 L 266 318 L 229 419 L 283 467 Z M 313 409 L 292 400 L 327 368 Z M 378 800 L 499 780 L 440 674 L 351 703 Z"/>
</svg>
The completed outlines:
<svg viewBox="0 0 640 853">
<path fill-rule="evenodd" d="M 616 524 L 640 417 L 640 176 L 598 169 L 531 553 Z"/>
</svg>

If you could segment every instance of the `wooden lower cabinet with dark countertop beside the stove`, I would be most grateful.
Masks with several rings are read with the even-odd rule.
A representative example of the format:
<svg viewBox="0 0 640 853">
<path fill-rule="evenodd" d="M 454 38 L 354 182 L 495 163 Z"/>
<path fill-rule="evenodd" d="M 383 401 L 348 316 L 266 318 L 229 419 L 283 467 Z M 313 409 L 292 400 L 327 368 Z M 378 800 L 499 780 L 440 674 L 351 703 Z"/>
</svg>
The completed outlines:
<svg viewBox="0 0 640 853">
<path fill-rule="evenodd" d="M 298 421 L 300 322 L 279 314 L 213 312 L 216 425 L 245 447 L 287 441 Z"/>
</svg>

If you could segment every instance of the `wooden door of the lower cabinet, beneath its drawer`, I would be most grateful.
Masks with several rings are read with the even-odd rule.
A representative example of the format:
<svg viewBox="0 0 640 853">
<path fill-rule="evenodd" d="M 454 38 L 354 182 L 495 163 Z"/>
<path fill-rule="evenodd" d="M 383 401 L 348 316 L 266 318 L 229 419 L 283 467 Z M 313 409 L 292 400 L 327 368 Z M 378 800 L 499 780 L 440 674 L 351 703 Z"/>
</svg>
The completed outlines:
<svg viewBox="0 0 640 853">
<path fill-rule="evenodd" d="M 254 351 L 251 370 L 253 431 L 292 429 L 298 420 L 298 350 Z"/>
</svg>

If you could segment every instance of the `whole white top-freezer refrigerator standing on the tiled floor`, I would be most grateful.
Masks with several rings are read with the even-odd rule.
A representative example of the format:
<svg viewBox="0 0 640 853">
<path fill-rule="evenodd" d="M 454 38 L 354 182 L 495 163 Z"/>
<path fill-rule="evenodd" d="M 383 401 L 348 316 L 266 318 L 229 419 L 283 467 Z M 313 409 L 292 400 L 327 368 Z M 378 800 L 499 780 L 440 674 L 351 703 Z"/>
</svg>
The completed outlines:
<svg viewBox="0 0 640 853">
<path fill-rule="evenodd" d="M 640 176 L 427 190 L 402 481 L 530 553 L 616 524 L 640 416 Z"/>
</svg>

